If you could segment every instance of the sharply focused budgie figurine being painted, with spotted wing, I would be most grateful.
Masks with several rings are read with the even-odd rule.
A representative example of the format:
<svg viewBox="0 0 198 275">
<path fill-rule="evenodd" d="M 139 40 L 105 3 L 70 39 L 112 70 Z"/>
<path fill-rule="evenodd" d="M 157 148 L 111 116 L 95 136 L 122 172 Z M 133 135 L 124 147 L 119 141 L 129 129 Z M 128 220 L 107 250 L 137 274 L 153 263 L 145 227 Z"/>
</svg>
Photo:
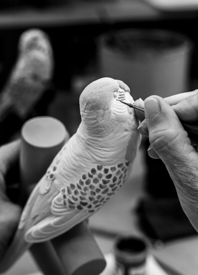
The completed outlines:
<svg viewBox="0 0 198 275">
<path fill-rule="evenodd" d="M 32 243 L 89 218 L 126 181 L 141 138 L 134 110 L 120 100 L 134 103 L 120 80 L 101 78 L 83 90 L 81 123 L 29 196 L 0 272 Z"/>
</svg>

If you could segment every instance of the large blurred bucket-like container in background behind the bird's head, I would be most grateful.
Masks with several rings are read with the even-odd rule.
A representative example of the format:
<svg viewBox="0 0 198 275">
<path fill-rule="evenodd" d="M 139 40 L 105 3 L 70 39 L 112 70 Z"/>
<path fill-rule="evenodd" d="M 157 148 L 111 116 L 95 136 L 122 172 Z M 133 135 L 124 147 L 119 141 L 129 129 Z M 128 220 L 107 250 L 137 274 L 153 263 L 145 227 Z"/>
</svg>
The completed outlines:
<svg viewBox="0 0 198 275">
<path fill-rule="evenodd" d="M 136 100 L 186 92 L 192 44 L 164 30 L 127 29 L 102 35 L 98 58 L 101 77 L 124 81 Z"/>
</svg>

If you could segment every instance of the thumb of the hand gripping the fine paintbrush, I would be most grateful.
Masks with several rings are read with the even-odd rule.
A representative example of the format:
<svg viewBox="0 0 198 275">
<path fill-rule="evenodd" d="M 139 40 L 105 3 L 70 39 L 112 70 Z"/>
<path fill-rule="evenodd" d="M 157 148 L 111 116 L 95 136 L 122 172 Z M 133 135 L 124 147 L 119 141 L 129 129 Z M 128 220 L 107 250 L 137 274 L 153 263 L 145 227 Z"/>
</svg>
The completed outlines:
<svg viewBox="0 0 198 275">
<path fill-rule="evenodd" d="M 158 96 L 146 98 L 144 107 L 150 144 L 167 169 L 188 166 L 196 150 L 175 111 Z"/>
</svg>

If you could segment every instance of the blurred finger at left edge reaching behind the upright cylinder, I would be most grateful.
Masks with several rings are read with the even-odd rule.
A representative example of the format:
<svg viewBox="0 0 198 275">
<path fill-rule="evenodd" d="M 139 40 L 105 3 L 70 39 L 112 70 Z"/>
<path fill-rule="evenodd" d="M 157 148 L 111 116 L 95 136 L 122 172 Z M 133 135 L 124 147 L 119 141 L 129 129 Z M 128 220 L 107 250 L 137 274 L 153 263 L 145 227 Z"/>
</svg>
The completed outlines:
<svg viewBox="0 0 198 275">
<path fill-rule="evenodd" d="M 20 139 L 0 147 L 0 172 L 5 175 L 17 161 L 20 149 Z"/>
</svg>

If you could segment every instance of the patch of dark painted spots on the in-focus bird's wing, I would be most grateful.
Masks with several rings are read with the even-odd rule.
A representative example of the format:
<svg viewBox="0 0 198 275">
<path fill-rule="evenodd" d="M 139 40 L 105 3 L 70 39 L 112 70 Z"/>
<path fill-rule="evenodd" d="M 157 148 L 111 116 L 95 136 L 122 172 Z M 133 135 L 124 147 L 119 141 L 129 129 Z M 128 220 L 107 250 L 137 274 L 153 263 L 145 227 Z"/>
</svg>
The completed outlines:
<svg viewBox="0 0 198 275">
<path fill-rule="evenodd" d="M 129 162 L 104 167 L 98 164 L 89 172 L 82 174 L 67 188 L 61 188 L 51 204 L 53 215 L 61 216 L 71 210 L 87 210 L 92 213 L 116 193 L 128 175 Z M 54 176 L 54 175 L 53 175 Z"/>
</svg>

